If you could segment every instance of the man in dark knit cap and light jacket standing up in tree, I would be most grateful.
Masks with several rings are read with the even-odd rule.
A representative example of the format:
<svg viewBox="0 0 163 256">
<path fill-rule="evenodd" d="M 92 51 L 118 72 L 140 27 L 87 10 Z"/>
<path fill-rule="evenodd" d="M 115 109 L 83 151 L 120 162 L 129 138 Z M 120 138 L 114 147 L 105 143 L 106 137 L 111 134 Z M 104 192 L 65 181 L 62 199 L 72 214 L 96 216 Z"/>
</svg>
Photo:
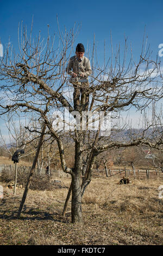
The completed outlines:
<svg viewBox="0 0 163 256">
<path fill-rule="evenodd" d="M 92 69 L 90 60 L 84 56 L 84 53 L 84 45 L 82 43 L 78 44 L 76 47 L 76 56 L 70 58 L 70 62 L 66 68 L 67 74 L 71 75 L 70 82 L 74 87 L 73 102 L 76 111 L 79 111 L 80 108 L 80 93 L 82 110 L 87 110 L 89 107 L 89 93 L 87 92 L 89 83 L 87 77 L 91 75 Z M 86 79 L 87 82 L 78 81 L 82 79 Z"/>
</svg>

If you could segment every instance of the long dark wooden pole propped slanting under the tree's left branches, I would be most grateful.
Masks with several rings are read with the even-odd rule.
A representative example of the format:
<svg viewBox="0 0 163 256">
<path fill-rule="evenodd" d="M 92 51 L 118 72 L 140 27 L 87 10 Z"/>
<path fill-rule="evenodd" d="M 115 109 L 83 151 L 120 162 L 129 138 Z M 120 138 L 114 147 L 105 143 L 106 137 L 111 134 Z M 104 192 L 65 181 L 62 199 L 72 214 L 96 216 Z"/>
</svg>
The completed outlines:
<svg viewBox="0 0 163 256">
<path fill-rule="evenodd" d="M 35 170 L 35 167 L 36 167 L 37 159 L 39 157 L 39 153 L 40 153 L 40 149 L 41 149 L 41 145 L 42 145 L 42 141 L 43 141 L 43 133 L 45 133 L 45 129 L 46 129 L 46 125 L 44 124 L 43 127 L 42 127 L 39 144 L 38 144 L 37 151 L 36 151 L 36 154 L 35 154 L 35 159 L 33 161 L 32 168 L 30 169 L 30 173 L 29 173 L 27 184 L 26 184 L 26 188 L 24 190 L 23 197 L 22 197 L 22 200 L 21 200 L 21 203 L 20 203 L 20 208 L 18 210 L 17 218 L 20 218 L 21 211 L 23 209 L 23 205 L 24 205 L 25 200 L 27 198 L 27 193 L 28 193 L 28 190 L 29 190 L 29 186 L 30 186 L 30 183 L 32 181 L 32 176 L 34 174 L 34 170 Z"/>
</svg>

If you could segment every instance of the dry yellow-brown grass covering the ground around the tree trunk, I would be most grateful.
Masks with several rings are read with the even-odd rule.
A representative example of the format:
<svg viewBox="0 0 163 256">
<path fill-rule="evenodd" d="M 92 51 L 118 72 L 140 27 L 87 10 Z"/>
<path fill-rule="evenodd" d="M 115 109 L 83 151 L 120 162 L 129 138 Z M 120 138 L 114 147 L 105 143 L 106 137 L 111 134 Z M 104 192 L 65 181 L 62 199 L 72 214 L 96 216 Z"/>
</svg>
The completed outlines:
<svg viewBox="0 0 163 256">
<path fill-rule="evenodd" d="M 93 179 L 83 196 L 83 225 L 71 224 L 71 202 L 61 212 L 70 179 L 52 191 L 30 190 L 21 218 L 16 213 L 23 194 L 4 188 L 0 199 L 0 245 L 162 245 L 161 180 Z M 1 185 L 5 186 L 5 184 Z"/>
</svg>

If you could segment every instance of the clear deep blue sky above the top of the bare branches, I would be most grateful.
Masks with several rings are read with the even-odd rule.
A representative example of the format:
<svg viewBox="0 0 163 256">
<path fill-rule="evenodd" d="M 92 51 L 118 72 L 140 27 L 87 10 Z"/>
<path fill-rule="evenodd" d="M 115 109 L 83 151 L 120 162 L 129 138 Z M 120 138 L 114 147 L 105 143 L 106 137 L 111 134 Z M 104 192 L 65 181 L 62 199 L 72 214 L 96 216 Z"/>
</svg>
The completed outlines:
<svg viewBox="0 0 163 256">
<path fill-rule="evenodd" d="M 8 43 L 17 48 L 18 23 L 30 29 L 32 18 L 33 32 L 42 37 L 47 34 L 47 25 L 50 33 L 57 31 L 57 15 L 61 30 L 69 31 L 76 22 L 81 25 L 75 45 L 83 42 L 86 46 L 92 45 L 93 36 L 97 51 L 103 53 L 104 40 L 106 48 L 110 47 L 110 32 L 112 45 L 124 44 L 124 36 L 133 47 L 135 57 L 139 58 L 141 42 L 146 27 L 148 44 L 151 45 L 153 58 L 159 51 L 159 44 L 163 44 L 163 1 L 0 1 L 0 39 L 3 45 Z M 161 57 L 161 62 L 163 57 Z"/>
</svg>

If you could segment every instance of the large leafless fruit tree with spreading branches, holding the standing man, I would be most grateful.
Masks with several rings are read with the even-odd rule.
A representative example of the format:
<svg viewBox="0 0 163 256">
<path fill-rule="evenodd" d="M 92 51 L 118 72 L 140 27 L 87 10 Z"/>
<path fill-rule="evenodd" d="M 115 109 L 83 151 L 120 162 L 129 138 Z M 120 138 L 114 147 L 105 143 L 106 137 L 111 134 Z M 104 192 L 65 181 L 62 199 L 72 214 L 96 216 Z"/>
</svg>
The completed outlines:
<svg viewBox="0 0 163 256">
<path fill-rule="evenodd" d="M 137 62 L 132 49 L 128 58 L 126 42 L 123 52 L 120 47 L 114 52 L 110 46 L 111 54 L 107 56 L 105 53 L 100 64 L 94 40 L 89 50 L 92 76 L 89 88 L 85 90 L 85 94 L 90 96 L 89 112 L 84 96 L 77 112 L 73 107 L 73 86 L 68 82 L 65 71 L 73 53 L 74 29 L 64 33 L 59 29 L 51 36 L 48 27 L 46 39 L 40 34 L 33 39 L 32 29 L 28 34 L 22 26 L 18 31 L 18 53 L 9 44 L 1 58 L 1 114 L 21 111 L 28 115 L 35 112 L 42 122 L 42 136 L 48 134 L 57 142 L 62 170 L 72 177 L 67 195 L 68 200 L 72 192 L 72 223 L 82 223 L 82 196 L 90 184 L 93 165 L 99 154 L 111 148 L 139 144 L 157 148 L 162 144 L 161 128 L 154 132 L 156 119 L 146 122 L 147 125 L 137 133 L 130 130 L 128 136 L 123 133 L 127 123 L 120 122 L 121 113 L 129 108 L 145 111 L 151 108 L 153 101 L 161 99 L 159 63 L 157 59 L 151 59 L 151 52 L 144 43 Z M 68 120 L 72 118 L 69 124 L 73 129 L 67 129 L 72 126 L 68 126 L 67 119 L 61 119 L 66 111 Z M 107 118 L 111 120 L 111 129 L 105 125 Z M 149 127 L 152 129 L 150 135 Z M 66 163 L 66 138 L 74 143 L 73 168 Z"/>
</svg>

